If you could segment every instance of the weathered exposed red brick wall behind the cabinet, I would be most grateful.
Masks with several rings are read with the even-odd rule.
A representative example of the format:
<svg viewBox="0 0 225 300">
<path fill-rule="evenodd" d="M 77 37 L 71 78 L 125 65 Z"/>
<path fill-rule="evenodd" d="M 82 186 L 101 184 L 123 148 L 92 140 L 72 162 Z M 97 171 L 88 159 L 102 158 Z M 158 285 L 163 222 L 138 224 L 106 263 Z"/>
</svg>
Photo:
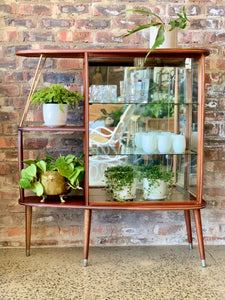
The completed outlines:
<svg viewBox="0 0 225 300">
<path fill-rule="evenodd" d="M 150 8 L 173 16 L 185 4 L 192 25 L 179 33 L 182 47 L 206 47 L 205 181 L 208 207 L 202 211 L 207 244 L 225 243 L 225 3 L 220 0 L 151 1 L 6 1 L 0 3 L 0 245 L 24 246 L 24 208 L 17 204 L 17 126 L 34 75 L 36 59 L 19 58 L 15 51 L 38 48 L 148 47 L 146 32 L 124 40 L 117 36 L 133 28 L 143 16 L 124 16 L 129 8 Z M 48 60 L 44 80 L 69 82 L 81 90 L 81 62 Z M 72 70 L 71 70 L 72 68 Z M 71 121 L 82 122 L 81 110 Z M 31 108 L 28 120 L 41 112 Z M 80 137 L 74 145 L 79 148 Z M 71 137 L 26 137 L 25 158 L 57 146 L 71 146 Z M 39 147 L 42 150 L 38 150 Z M 30 151 L 31 147 L 34 150 Z M 81 245 L 83 212 L 34 209 L 35 245 Z M 196 241 L 196 240 L 195 240 Z M 182 244 L 186 231 L 182 212 L 94 212 L 94 245 Z"/>
</svg>

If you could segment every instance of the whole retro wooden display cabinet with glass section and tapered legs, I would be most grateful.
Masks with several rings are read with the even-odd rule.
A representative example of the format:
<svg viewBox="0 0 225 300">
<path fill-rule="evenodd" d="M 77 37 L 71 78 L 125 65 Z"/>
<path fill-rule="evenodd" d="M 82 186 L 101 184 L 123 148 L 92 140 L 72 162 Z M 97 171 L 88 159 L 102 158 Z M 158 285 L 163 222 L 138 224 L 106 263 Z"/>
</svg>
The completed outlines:
<svg viewBox="0 0 225 300">
<path fill-rule="evenodd" d="M 204 84 L 205 56 L 209 52 L 160 49 L 145 60 L 147 52 L 147 49 L 17 51 L 19 56 L 39 58 L 18 128 L 19 172 L 23 168 L 25 132 L 81 132 L 86 170 L 83 194 L 68 196 L 65 203 L 57 198 L 41 203 L 39 197 L 26 196 L 20 189 L 19 203 L 25 206 L 27 255 L 30 255 L 34 206 L 84 210 L 85 266 L 92 210 L 182 210 L 190 248 L 190 212 L 193 212 L 200 258 L 205 266 L 200 210 L 206 205 L 203 200 Z M 49 58 L 82 59 L 83 126 L 23 125 L 30 98 Z M 165 193 L 159 190 L 159 182 L 156 193 L 148 194 L 153 191 L 143 174 L 148 173 L 149 166 L 149 170 L 160 168 L 161 173 L 172 176 L 169 194 L 168 186 L 164 188 Z M 119 169 L 121 174 L 124 167 L 133 172 L 132 192 L 121 196 L 113 193 L 111 187 L 107 193 L 106 170 Z"/>
</svg>

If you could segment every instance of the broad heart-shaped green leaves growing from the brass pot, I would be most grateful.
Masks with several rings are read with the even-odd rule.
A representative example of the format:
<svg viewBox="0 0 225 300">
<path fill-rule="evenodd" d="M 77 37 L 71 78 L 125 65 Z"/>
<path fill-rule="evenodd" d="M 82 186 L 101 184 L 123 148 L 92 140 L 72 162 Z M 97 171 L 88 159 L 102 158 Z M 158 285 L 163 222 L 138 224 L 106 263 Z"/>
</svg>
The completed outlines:
<svg viewBox="0 0 225 300">
<path fill-rule="evenodd" d="M 67 182 L 68 190 L 80 189 L 80 182 L 84 180 L 84 162 L 81 157 L 69 154 L 67 156 L 59 156 L 55 159 L 52 156 L 46 155 L 45 159 L 24 161 L 28 165 L 26 169 L 21 171 L 19 181 L 20 187 L 23 189 L 32 190 L 37 196 L 44 194 L 44 187 L 41 183 L 41 175 L 47 171 L 58 171 Z"/>
</svg>

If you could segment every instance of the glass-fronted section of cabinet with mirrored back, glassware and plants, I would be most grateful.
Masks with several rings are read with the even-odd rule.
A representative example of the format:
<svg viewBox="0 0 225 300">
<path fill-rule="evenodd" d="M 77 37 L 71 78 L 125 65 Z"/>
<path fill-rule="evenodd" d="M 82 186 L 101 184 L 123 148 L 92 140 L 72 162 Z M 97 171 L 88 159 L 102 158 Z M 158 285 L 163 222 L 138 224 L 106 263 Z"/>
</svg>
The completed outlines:
<svg viewBox="0 0 225 300">
<path fill-rule="evenodd" d="M 198 102 L 196 59 L 90 63 L 90 201 L 194 200 Z"/>
</svg>

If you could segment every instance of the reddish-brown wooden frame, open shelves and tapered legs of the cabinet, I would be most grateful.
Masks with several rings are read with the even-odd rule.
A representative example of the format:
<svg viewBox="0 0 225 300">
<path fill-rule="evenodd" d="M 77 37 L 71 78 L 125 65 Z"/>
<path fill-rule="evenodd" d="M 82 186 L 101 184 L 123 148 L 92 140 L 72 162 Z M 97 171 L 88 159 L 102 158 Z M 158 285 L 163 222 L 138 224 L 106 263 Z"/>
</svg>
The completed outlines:
<svg viewBox="0 0 225 300">
<path fill-rule="evenodd" d="M 152 202 L 103 202 L 94 203 L 89 201 L 89 65 L 104 65 L 108 64 L 126 64 L 130 63 L 134 57 L 145 57 L 147 49 L 82 49 L 82 50 L 21 50 L 17 51 L 16 55 L 24 57 L 38 57 L 39 62 L 35 72 L 34 80 L 31 86 L 31 91 L 28 96 L 28 100 L 25 106 L 25 110 L 18 129 L 18 161 L 19 172 L 23 168 L 23 134 L 24 132 L 82 132 L 84 141 L 84 153 L 85 153 L 85 184 L 84 184 L 84 196 L 77 196 L 71 198 L 66 203 L 60 203 L 57 200 L 40 203 L 39 198 L 36 196 L 24 196 L 23 189 L 20 188 L 19 204 L 25 206 L 25 221 L 26 221 L 26 254 L 30 255 L 30 243 L 31 243 L 31 219 L 32 219 L 32 207 L 54 207 L 54 208 L 71 208 L 71 209 L 83 209 L 84 210 L 84 265 L 87 265 L 88 252 L 89 252 L 89 240 L 91 231 L 91 214 L 92 210 L 183 210 L 187 228 L 187 236 L 189 247 L 192 248 L 192 230 L 191 230 L 191 217 L 190 212 L 193 211 L 194 221 L 196 227 L 196 233 L 198 238 L 200 258 L 202 260 L 202 266 L 205 266 L 205 252 L 202 235 L 202 224 L 200 210 L 206 206 L 206 202 L 203 200 L 203 146 L 204 146 L 204 98 L 205 98 L 205 56 L 209 54 L 204 49 L 160 49 L 154 50 L 151 53 L 156 61 L 158 58 L 166 59 L 170 57 L 174 61 L 184 59 L 186 57 L 194 58 L 198 60 L 198 157 L 197 157 L 197 191 L 196 196 L 191 195 L 189 201 L 152 201 Z M 46 59 L 48 58 L 79 58 L 83 59 L 83 87 L 84 87 L 84 125 L 81 127 L 66 126 L 63 128 L 49 128 L 49 127 L 35 127 L 35 126 L 23 126 L 23 122 L 26 118 L 26 114 L 29 108 L 31 97 L 38 85 L 40 76 L 42 74 Z M 175 96 L 176 98 L 176 96 Z M 177 112 L 175 111 L 175 118 L 177 118 Z M 187 121 L 188 122 L 188 121 Z M 176 124 L 176 122 L 175 122 Z M 176 125 L 175 125 L 176 132 Z M 175 160 L 176 161 L 176 160 Z"/>
</svg>

